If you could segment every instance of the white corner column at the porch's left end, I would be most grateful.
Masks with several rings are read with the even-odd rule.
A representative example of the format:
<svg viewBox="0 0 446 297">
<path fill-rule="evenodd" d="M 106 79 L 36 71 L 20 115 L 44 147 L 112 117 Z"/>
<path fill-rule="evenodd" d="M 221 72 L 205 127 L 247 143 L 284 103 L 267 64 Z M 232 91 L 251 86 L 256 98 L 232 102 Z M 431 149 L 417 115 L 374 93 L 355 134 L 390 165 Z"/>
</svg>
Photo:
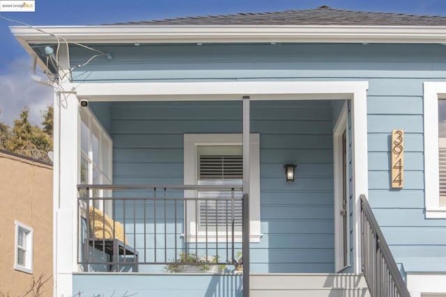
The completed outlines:
<svg viewBox="0 0 446 297">
<path fill-rule="evenodd" d="M 69 79 L 66 48 L 61 45 L 59 77 Z M 72 272 L 77 271 L 77 172 L 79 107 L 75 93 L 59 82 L 54 95 L 54 296 L 72 296 Z"/>
</svg>

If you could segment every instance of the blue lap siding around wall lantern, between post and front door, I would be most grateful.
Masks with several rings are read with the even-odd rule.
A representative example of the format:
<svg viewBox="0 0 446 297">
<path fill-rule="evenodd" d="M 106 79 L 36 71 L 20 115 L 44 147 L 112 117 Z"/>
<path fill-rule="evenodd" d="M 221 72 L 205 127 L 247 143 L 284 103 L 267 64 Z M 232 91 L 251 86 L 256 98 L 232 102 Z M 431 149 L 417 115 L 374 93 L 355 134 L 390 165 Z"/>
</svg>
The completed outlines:
<svg viewBox="0 0 446 297">
<path fill-rule="evenodd" d="M 334 271 L 330 102 L 252 102 L 252 118 L 277 122 L 259 131 L 263 238 L 251 245 L 252 271 Z M 285 182 L 285 163 L 298 166 L 294 183 Z"/>
</svg>

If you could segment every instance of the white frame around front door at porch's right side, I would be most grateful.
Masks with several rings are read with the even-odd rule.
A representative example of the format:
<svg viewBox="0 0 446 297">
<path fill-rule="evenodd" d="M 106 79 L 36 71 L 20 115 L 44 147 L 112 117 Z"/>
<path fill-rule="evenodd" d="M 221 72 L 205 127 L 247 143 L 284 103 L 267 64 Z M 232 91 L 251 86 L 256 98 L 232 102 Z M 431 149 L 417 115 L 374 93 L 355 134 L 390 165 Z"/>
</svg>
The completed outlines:
<svg viewBox="0 0 446 297">
<path fill-rule="evenodd" d="M 350 143 L 350 134 L 348 133 L 348 102 L 344 102 L 341 113 L 337 118 L 336 124 L 333 128 L 333 182 L 334 182 L 334 271 L 341 272 L 351 266 L 350 261 L 350 187 L 348 182 L 350 166 L 346 166 L 346 184 L 343 179 L 343 150 L 342 150 L 342 135 L 346 131 L 346 162 L 350 160 L 350 153 L 348 150 L 348 143 Z M 344 195 L 344 186 L 346 187 L 346 225 L 347 230 L 344 230 L 344 220 L 341 219 L 339 213 L 341 212 L 342 196 Z M 347 261 L 344 265 L 344 232 L 347 237 Z"/>
</svg>

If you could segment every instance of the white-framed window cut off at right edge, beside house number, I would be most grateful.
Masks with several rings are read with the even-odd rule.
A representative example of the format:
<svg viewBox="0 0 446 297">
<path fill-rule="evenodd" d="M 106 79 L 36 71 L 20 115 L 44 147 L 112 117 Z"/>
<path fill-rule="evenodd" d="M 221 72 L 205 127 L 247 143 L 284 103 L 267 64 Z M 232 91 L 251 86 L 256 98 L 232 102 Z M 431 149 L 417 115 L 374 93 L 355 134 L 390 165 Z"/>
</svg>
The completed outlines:
<svg viewBox="0 0 446 297">
<path fill-rule="evenodd" d="M 446 83 L 424 83 L 426 218 L 446 218 Z"/>
</svg>

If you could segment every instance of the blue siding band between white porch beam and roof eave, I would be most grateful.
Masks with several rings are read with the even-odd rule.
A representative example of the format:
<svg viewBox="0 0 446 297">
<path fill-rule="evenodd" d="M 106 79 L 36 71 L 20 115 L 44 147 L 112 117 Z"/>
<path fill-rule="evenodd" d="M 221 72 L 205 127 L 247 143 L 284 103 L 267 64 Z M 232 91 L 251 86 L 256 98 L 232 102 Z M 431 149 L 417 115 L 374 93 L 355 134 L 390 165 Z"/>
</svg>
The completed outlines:
<svg viewBox="0 0 446 297">
<path fill-rule="evenodd" d="M 111 53 L 113 61 L 96 58 L 89 65 L 75 69 L 73 81 L 431 79 L 444 76 L 441 63 L 445 63 L 442 45 L 96 45 L 95 48 Z M 91 51 L 76 46 L 70 47 L 70 53 L 72 65 L 91 57 Z M 397 92 L 394 88 L 388 90 Z M 381 95 L 385 93 L 383 90 Z"/>
</svg>

